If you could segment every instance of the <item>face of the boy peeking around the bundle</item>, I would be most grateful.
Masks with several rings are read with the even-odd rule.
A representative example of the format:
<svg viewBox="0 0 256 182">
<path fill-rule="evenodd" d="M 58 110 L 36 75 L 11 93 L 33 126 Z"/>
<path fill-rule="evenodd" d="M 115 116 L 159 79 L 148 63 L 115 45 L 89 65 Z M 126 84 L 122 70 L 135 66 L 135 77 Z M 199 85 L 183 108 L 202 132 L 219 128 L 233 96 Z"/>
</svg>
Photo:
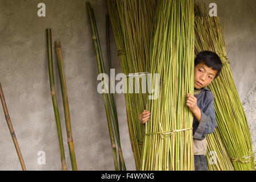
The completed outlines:
<svg viewBox="0 0 256 182">
<path fill-rule="evenodd" d="M 217 70 L 207 67 L 204 63 L 195 66 L 195 82 L 194 87 L 201 89 L 209 85 L 217 75 Z"/>
</svg>

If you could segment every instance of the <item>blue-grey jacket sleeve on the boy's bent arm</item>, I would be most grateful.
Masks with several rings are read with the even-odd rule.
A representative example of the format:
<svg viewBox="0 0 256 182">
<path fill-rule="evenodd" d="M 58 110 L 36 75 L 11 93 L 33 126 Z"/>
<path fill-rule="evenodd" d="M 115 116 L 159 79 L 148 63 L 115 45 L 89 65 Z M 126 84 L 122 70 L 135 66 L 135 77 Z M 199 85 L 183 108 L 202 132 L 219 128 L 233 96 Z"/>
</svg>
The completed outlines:
<svg viewBox="0 0 256 182">
<path fill-rule="evenodd" d="M 205 107 L 203 107 L 203 109 L 200 109 L 200 110 L 201 110 L 201 120 L 193 136 L 193 138 L 197 140 L 204 139 L 206 134 L 213 133 L 214 128 L 217 127 L 217 122 L 215 119 L 213 93 L 209 92 Z"/>
</svg>

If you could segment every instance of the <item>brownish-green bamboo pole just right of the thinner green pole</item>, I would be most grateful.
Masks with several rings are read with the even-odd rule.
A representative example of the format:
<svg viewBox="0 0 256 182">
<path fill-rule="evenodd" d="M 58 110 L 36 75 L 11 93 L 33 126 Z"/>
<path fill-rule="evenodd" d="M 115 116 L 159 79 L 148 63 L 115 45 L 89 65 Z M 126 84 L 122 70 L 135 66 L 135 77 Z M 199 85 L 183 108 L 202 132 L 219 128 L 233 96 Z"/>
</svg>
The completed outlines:
<svg viewBox="0 0 256 182">
<path fill-rule="evenodd" d="M 58 62 L 58 69 L 59 69 L 59 81 L 61 82 L 61 93 L 62 93 L 64 113 L 65 113 L 67 143 L 69 145 L 71 166 L 73 171 L 77 171 L 77 161 L 75 160 L 75 150 L 74 150 L 74 142 L 73 142 L 73 136 L 72 136 L 72 130 L 71 130 L 69 101 L 67 99 L 66 80 L 64 75 L 63 59 L 62 59 L 62 52 L 61 52 L 61 42 L 55 41 L 54 43 L 55 43 L 55 52 L 56 52 L 56 57 Z"/>
</svg>

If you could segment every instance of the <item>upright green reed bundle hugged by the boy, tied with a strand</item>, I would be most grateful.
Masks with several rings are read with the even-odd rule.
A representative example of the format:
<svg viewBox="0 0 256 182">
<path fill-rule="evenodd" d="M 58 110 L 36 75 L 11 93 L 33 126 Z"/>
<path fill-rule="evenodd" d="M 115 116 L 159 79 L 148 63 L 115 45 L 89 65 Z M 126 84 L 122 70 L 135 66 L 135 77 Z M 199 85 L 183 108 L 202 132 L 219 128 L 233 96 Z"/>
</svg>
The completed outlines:
<svg viewBox="0 0 256 182">
<path fill-rule="evenodd" d="M 194 1 L 160 0 L 151 41 L 151 73 L 158 73 L 159 98 L 149 101 L 142 170 L 194 170 Z M 153 79 L 153 88 L 159 84 Z"/>
</svg>

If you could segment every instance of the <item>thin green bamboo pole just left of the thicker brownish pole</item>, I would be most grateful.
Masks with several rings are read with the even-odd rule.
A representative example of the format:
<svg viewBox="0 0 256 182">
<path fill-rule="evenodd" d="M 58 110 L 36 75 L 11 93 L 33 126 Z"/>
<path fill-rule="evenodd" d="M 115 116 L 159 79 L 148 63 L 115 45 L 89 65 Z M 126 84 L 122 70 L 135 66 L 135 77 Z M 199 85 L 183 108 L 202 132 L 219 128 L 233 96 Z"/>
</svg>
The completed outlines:
<svg viewBox="0 0 256 182">
<path fill-rule="evenodd" d="M 66 171 L 67 165 L 66 165 L 65 151 L 64 151 L 63 139 L 62 139 L 61 121 L 59 119 L 59 109 L 58 109 L 57 97 L 55 92 L 55 84 L 54 84 L 53 52 L 52 52 L 52 46 L 51 46 L 51 29 L 50 28 L 46 29 L 46 38 L 47 38 L 49 79 L 50 79 L 50 87 L 51 87 L 51 100 L 53 101 L 53 109 L 54 109 L 55 121 L 57 126 L 59 152 L 61 153 L 62 170 Z"/>
</svg>

